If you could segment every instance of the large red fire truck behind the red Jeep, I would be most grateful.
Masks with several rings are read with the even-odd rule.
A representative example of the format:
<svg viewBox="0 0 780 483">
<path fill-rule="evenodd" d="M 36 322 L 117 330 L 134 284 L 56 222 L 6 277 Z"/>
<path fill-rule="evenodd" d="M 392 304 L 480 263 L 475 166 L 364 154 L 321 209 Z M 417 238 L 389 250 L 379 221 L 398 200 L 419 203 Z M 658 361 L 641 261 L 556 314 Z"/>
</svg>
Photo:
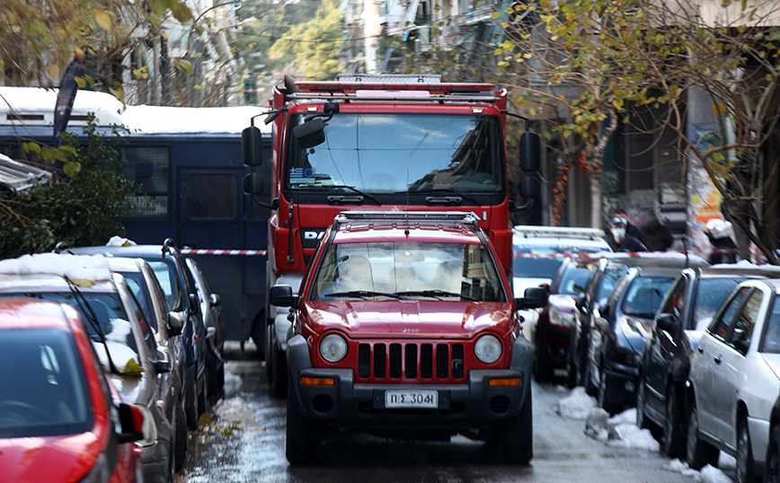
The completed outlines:
<svg viewBox="0 0 780 483">
<path fill-rule="evenodd" d="M 520 167 L 528 175 L 520 195 L 527 203 L 517 206 L 509 196 L 505 139 L 507 116 L 519 116 L 507 110 L 506 90 L 441 83 L 438 75 L 340 75 L 335 82 L 286 76 L 270 108 L 270 198 L 261 197 L 257 168 L 265 160 L 255 119 L 242 135 L 244 164 L 252 168 L 244 192 L 271 209 L 266 287 L 297 289 L 324 230 L 352 210 L 471 213 L 511 275 L 510 212 L 539 196 L 532 173 L 541 143 L 528 128 L 521 136 Z M 253 338 L 281 396 L 288 312 L 267 304 L 265 321 Z"/>
</svg>

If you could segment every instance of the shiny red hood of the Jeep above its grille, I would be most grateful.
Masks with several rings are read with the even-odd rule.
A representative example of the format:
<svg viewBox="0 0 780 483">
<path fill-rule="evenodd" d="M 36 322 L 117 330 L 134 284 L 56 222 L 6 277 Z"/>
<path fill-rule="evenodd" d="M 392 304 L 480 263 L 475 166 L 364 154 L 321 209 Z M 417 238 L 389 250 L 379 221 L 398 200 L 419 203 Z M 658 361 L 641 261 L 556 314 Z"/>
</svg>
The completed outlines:
<svg viewBox="0 0 780 483">
<path fill-rule="evenodd" d="M 316 332 L 340 329 L 351 338 L 473 338 L 486 328 L 510 330 L 510 303 L 429 300 L 310 302 L 301 321 Z"/>
</svg>

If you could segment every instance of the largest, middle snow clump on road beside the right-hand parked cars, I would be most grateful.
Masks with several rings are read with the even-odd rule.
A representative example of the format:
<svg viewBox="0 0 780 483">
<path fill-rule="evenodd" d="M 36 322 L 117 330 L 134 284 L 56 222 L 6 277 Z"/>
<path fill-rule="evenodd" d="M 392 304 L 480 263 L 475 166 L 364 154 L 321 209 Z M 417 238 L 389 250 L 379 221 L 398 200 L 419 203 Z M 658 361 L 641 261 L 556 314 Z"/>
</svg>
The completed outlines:
<svg viewBox="0 0 780 483">
<path fill-rule="evenodd" d="M 609 417 L 602 408 L 592 408 L 585 422 L 585 434 L 609 446 L 659 451 L 660 444 L 650 430 L 640 429 L 635 421 L 635 408 L 626 409 L 614 417 Z"/>
</svg>

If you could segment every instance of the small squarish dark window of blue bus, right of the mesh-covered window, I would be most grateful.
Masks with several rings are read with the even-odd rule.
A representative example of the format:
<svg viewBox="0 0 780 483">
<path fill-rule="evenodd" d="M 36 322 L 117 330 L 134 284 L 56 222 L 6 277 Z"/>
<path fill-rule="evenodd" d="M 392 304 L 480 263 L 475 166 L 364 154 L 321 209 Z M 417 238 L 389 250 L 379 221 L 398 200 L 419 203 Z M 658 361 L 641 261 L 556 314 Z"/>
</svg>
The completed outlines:
<svg viewBox="0 0 780 483">
<path fill-rule="evenodd" d="M 184 216 L 188 220 L 235 219 L 238 216 L 237 177 L 206 172 L 186 175 Z"/>
</svg>

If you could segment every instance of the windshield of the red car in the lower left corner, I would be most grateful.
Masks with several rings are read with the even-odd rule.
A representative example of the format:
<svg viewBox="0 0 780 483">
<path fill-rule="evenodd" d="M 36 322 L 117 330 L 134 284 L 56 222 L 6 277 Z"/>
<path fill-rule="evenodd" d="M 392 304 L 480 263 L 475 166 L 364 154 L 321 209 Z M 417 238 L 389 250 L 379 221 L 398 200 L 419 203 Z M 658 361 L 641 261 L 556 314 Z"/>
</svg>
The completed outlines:
<svg viewBox="0 0 780 483">
<path fill-rule="evenodd" d="M 0 438 L 84 433 L 92 404 L 73 334 L 0 330 Z"/>
</svg>

